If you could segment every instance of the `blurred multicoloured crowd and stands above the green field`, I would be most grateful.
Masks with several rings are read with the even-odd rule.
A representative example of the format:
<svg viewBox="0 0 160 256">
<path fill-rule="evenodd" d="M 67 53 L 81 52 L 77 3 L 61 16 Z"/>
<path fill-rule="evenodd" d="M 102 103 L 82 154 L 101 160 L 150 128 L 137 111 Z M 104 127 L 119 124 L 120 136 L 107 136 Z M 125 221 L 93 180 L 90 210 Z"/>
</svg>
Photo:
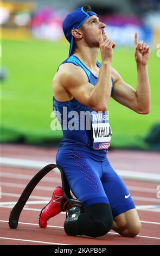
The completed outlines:
<svg viewBox="0 0 160 256">
<path fill-rule="evenodd" d="M 84 0 L 68 1 L 67 4 L 66 0 L 4 1 L 3 6 L 0 4 L 3 34 L 8 34 L 5 29 L 9 29 L 10 35 L 19 33 L 19 38 L 23 34 L 42 40 L 61 40 L 64 38 L 62 22 L 65 16 L 71 9 L 84 4 Z M 98 13 L 100 20 L 107 25 L 107 34 L 116 41 L 117 46 L 133 46 L 135 31 L 141 40 L 150 45 L 159 42 L 160 0 L 88 2 L 95 13 Z"/>
</svg>

